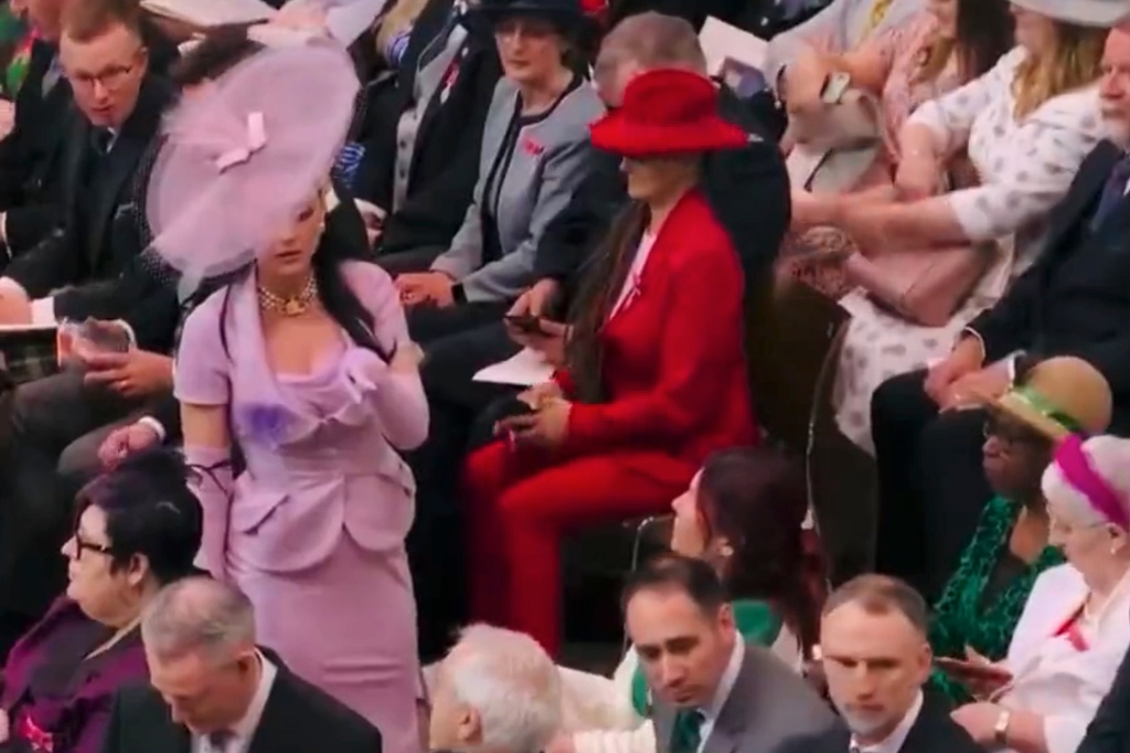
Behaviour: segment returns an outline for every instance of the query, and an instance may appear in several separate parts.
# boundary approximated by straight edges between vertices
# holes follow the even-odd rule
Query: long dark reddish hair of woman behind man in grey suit
[[[724,537],[733,549],[722,572],[731,598],[773,604],[807,657],[819,641],[811,579],[823,566],[805,551],[800,466],[768,448],[720,450],[703,465],[697,504],[707,537]]]

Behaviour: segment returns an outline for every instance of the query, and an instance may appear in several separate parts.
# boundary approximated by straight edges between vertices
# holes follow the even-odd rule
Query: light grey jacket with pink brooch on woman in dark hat
[[[516,106],[518,87],[503,78],[483,130],[473,200],[451,248],[432,265],[461,282],[472,302],[515,298],[533,284],[533,258],[541,235],[589,171],[589,124],[605,112],[592,85],[582,81],[550,112],[521,129],[510,166],[495,178],[503,181],[495,218],[502,254],[484,266],[484,191]]]

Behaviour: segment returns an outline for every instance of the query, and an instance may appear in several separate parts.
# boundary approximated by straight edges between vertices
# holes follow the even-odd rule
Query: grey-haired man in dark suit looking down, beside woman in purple
[[[119,692],[102,753],[380,753],[381,733],[255,644],[251,601],[189,578],[141,620],[153,687]]]

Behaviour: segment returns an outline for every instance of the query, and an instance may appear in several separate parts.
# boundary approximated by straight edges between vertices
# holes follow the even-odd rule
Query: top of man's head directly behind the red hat
[[[605,35],[593,79],[605,103],[616,107],[628,80],[657,68],[678,68],[705,76],[706,58],[689,21],[647,11],[628,16]]]

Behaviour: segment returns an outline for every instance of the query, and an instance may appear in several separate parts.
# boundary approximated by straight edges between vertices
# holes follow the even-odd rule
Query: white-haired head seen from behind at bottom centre
[[[437,667],[432,750],[537,753],[560,724],[557,667],[524,633],[471,625]]]

